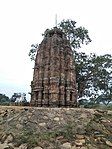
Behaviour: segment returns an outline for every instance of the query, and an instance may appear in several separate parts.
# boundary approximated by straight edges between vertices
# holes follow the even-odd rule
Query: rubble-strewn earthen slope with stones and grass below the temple
[[[0,149],[112,148],[112,111],[27,109],[0,107]]]

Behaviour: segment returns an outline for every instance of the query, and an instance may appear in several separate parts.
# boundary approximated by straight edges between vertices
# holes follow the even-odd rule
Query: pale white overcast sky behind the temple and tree
[[[0,93],[30,92],[30,46],[46,28],[72,19],[89,31],[84,52],[112,54],[112,0],[0,0]]]

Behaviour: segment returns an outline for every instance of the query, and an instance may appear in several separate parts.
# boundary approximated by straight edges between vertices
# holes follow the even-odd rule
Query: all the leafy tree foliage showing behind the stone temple
[[[97,56],[93,53],[87,55],[84,52],[77,52],[76,49],[83,44],[88,44],[91,39],[88,30],[84,27],[76,27],[75,21],[63,20],[58,24],[58,28],[66,34],[74,51],[78,98],[88,97],[92,104],[112,101],[112,56],[109,54]],[[48,29],[44,35],[47,31]],[[36,51],[37,47],[34,47]]]

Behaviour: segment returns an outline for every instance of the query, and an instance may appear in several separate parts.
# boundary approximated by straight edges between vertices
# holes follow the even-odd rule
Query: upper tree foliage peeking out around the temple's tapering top
[[[65,34],[67,39],[70,41],[70,45],[73,50],[76,48],[81,48],[82,44],[88,44],[91,42],[91,39],[88,35],[88,30],[84,27],[76,27],[76,22],[72,20],[63,20],[58,24],[58,28],[60,28]],[[49,29],[46,29],[43,36]],[[38,49],[38,44],[32,44],[29,52],[29,57],[31,60],[35,60],[36,51]]]

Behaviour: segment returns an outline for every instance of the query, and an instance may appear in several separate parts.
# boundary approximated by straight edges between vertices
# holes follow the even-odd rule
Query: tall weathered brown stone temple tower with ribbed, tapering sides
[[[46,32],[38,47],[30,104],[38,107],[75,107],[77,104],[73,51],[57,27]]]

